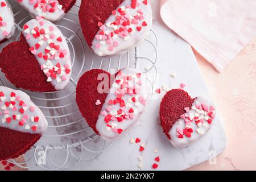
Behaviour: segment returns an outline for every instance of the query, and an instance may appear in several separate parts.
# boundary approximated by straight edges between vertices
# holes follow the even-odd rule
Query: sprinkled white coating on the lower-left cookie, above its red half
[[[46,118],[26,93],[0,86],[0,100],[0,127],[31,134],[46,131]]]

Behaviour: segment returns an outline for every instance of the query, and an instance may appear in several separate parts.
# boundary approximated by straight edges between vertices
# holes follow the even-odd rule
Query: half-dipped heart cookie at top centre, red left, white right
[[[147,37],[152,10],[147,0],[84,0],[79,20],[88,46],[98,56],[121,55]]]

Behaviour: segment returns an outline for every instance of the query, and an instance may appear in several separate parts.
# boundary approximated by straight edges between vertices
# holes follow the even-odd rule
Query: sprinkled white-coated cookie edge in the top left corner
[[[14,34],[14,16],[9,3],[5,0],[0,1],[0,42],[10,39]]]

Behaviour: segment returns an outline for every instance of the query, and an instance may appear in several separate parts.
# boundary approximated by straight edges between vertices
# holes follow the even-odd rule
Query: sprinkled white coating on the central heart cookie
[[[138,75],[138,77],[137,73],[139,72],[133,68],[125,68],[121,72],[122,74],[118,74],[115,78],[105,103],[102,103],[101,113],[96,123],[97,131],[105,140],[118,139],[130,130],[137,123],[139,115],[143,112],[148,100],[146,77],[143,75]],[[125,76],[130,76],[131,80],[127,82],[129,88],[135,86],[134,88],[137,89],[136,94],[133,94],[132,89],[129,91],[130,94],[125,93],[127,86],[121,89],[121,85],[124,83],[123,77]],[[122,94],[123,105],[119,103],[109,104],[110,100],[117,100],[118,94]],[[131,111],[131,108],[133,111]],[[111,114],[112,117],[106,122],[105,118],[108,114]],[[125,119],[122,118],[122,115],[125,115]],[[121,131],[119,131],[120,129]]]

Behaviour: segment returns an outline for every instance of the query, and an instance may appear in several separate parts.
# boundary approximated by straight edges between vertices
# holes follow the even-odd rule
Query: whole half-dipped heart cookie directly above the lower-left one
[[[19,42],[0,53],[0,68],[18,88],[38,92],[64,89],[71,77],[71,56],[55,24],[37,17],[24,24]]]

